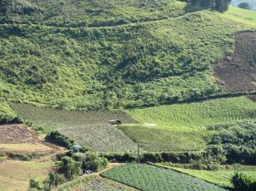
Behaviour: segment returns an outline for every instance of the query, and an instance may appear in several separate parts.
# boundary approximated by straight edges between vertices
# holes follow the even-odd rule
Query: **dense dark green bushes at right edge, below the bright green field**
[[[256,164],[256,125],[243,121],[213,135],[207,153],[220,163]]]

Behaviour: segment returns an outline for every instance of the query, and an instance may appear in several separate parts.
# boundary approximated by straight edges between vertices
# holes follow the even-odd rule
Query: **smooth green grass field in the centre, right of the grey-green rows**
[[[204,130],[165,130],[147,125],[119,125],[118,129],[134,142],[139,142],[141,148],[154,152],[201,150],[208,137]]]

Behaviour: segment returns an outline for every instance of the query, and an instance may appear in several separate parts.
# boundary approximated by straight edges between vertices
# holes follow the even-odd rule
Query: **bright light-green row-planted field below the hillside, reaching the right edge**
[[[162,129],[202,129],[207,125],[234,120],[255,120],[256,104],[245,97],[206,100],[128,110],[143,123],[157,124]]]

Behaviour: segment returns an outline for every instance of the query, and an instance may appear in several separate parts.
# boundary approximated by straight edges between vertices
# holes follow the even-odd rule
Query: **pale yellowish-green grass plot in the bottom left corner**
[[[0,164],[0,190],[27,190],[29,179],[43,181],[53,166],[54,163],[49,160],[4,162]]]

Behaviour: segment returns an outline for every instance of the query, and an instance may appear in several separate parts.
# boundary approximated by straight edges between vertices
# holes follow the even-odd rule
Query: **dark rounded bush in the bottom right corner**
[[[253,191],[256,189],[256,179],[248,177],[246,174],[236,173],[232,177],[232,183],[235,190]]]

